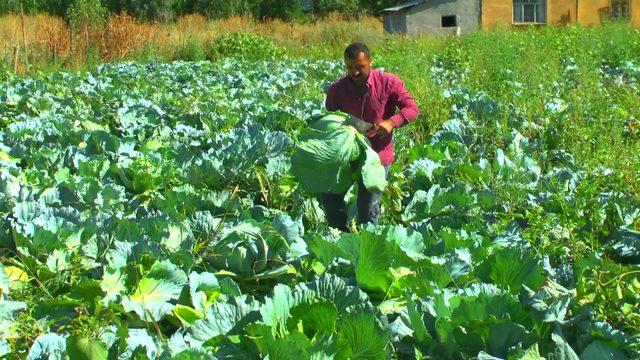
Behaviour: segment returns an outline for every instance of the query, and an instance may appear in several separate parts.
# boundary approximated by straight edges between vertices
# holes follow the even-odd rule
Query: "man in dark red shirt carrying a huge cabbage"
[[[371,55],[365,44],[347,46],[344,61],[347,75],[329,86],[325,106],[329,111],[340,110],[373,124],[366,136],[380,156],[387,176],[394,161],[393,130],[413,121],[419,114],[418,107],[397,76],[371,67]],[[345,195],[321,194],[321,202],[329,226],[348,231]],[[381,196],[367,191],[360,181],[358,223],[378,223]]]

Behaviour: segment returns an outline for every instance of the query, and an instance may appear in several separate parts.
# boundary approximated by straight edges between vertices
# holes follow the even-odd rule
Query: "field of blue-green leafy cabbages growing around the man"
[[[340,61],[6,77],[0,357],[640,357],[640,199],[563,148],[565,60],[532,117],[508,74],[512,102],[434,58],[449,119],[397,130],[380,225],[350,233],[292,169]],[[620,64],[588,70],[637,94]]]

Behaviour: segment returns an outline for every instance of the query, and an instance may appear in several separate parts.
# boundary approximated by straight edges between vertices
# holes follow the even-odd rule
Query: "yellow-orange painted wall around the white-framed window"
[[[640,27],[640,0],[631,1],[632,26]],[[598,26],[609,14],[610,0],[547,0],[547,24]],[[576,19],[577,12],[577,19]],[[483,0],[482,27],[513,25],[513,0]]]

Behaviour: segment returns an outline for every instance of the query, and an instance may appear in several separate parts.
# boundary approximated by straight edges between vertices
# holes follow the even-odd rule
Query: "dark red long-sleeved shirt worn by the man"
[[[371,69],[367,88],[369,90],[359,96],[353,82],[344,76],[329,86],[325,106],[329,111],[339,110],[371,124],[391,119],[396,128],[413,121],[420,113],[402,80],[393,74]],[[372,136],[369,140],[382,165],[392,164],[395,159],[393,134]]]

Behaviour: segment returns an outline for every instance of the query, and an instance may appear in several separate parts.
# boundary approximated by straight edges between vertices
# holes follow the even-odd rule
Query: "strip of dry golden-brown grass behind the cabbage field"
[[[356,39],[371,43],[384,39],[380,19],[366,17],[355,21],[340,15],[306,23],[260,22],[248,16],[209,21],[201,15],[187,15],[175,22],[151,24],[136,22],[126,14],[112,14],[104,26],[78,33],[71,33],[60,18],[34,15],[25,16],[25,29],[26,52],[20,16],[0,17],[0,61],[5,65],[12,66],[16,48],[20,68],[26,63],[35,67],[81,68],[87,65],[90,56],[93,61],[128,60],[149,49],[159,58],[172,59],[187,42],[205,45],[234,32],[267,36],[294,55],[316,45],[339,48]]]

